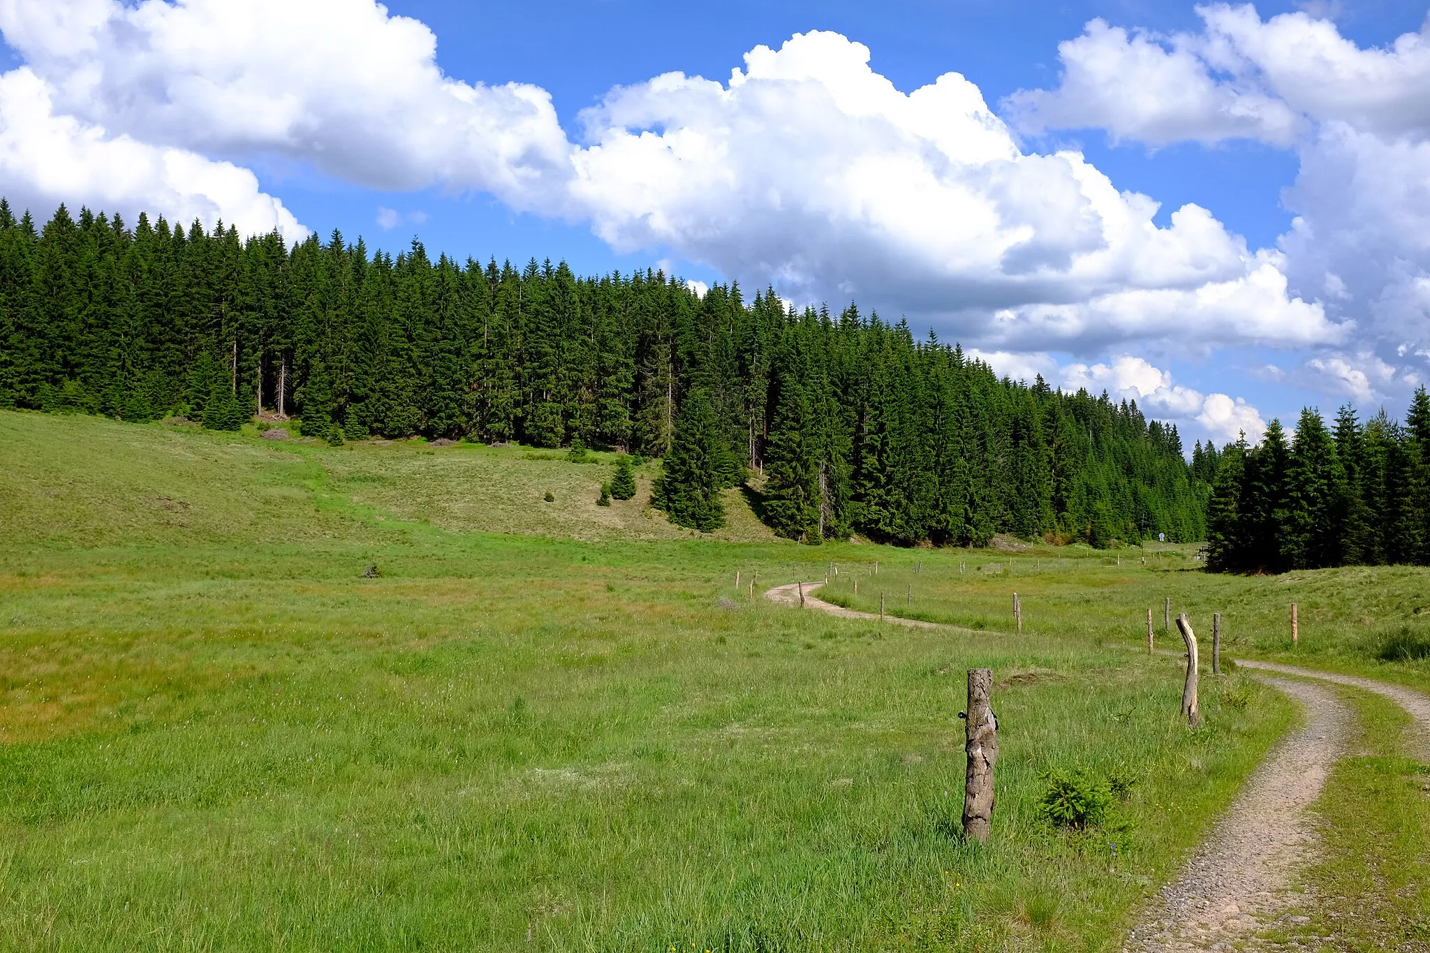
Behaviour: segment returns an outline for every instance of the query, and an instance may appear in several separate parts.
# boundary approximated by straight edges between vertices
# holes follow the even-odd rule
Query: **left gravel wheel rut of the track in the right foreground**
[[[1350,709],[1330,689],[1261,676],[1306,709],[1128,936],[1128,953],[1231,949],[1287,906],[1281,892],[1317,837],[1307,809],[1346,754]]]

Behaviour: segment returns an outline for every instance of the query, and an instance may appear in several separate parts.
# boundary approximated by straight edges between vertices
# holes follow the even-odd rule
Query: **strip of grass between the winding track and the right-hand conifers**
[[[1211,617],[1221,613],[1228,653],[1430,689],[1430,569],[1357,566],[1228,576],[1203,572],[1195,552],[1195,546],[1150,543],[1144,566],[1137,549],[1040,544],[1012,554],[1010,566],[1008,553],[990,550],[937,560],[921,552],[885,550],[877,576],[871,572],[874,557],[839,564],[839,574],[831,576],[819,597],[877,613],[882,592],[891,614],[1010,632],[1012,594],[1018,593],[1025,633],[1110,639],[1128,649],[1145,649],[1151,609],[1157,644],[1180,650],[1175,617],[1185,612],[1208,663]],[[924,572],[915,572],[919,560]],[[1170,632],[1163,616],[1168,597]],[[1294,647],[1293,602],[1300,629]]]

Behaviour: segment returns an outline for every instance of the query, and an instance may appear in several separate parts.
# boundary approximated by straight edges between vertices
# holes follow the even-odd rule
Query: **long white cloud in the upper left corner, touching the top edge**
[[[445,76],[432,30],[373,0],[0,0],[0,30],[59,110],[143,141],[561,211],[551,96]]]

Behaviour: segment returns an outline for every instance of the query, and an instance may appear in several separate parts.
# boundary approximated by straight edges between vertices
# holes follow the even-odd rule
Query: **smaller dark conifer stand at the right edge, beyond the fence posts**
[[[1420,387],[1404,426],[1381,410],[1336,429],[1303,410],[1287,441],[1278,420],[1257,447],[1221,453],[1208,564],[1228,572],[1430,564],[1430,397]]]

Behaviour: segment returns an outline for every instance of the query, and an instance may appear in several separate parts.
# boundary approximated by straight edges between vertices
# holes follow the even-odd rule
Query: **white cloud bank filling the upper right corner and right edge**
[[[1307,13],[1197,7],[1201,33],[1128,33],[1101,20],[1060,44],[1055,90],[1005,113],[1032,136],[1105,129],[1148,146],[1251,139],[1296,149],[1296,214],[1278,244],[1286,294],[1356,326],[1353,350],[1291,379],[1361,401],[1430,379],[1430,34],[1361,49]],[[1430,26],[1430,21],[1427,21]]]

